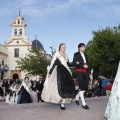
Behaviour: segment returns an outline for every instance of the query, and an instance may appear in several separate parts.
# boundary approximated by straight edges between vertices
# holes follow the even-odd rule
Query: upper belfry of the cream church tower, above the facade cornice
[[[26,31],[25,31],[27,24],[24,18],[20,15],[20,12],[21,11],[19,11],[19,15],[15,17],[15,20],[11,24],[12,34],[8,38],[8,42],[5,44],[5,46],[10,46],[13,44],[18,45],[18,43],[30,44],[28,40],[28,36],[26,35]]]

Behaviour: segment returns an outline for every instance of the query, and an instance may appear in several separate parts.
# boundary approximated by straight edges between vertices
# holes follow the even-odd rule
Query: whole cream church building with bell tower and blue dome
[[[51,55],[47,54],[43,45],[35,38],[32,42],[29,41],[26,35],[26,22],[22,16],[16,16],[12,22],[12,34],[4,45],[0,45],[0,61],[6,65],[8,69],[5,70],[3,79],[23,79],[25,72],[17,68],[16,60],[25,57],[29,53],[28,49],[32,46],[39,48],[44,53],[47,59],[51,60]]]

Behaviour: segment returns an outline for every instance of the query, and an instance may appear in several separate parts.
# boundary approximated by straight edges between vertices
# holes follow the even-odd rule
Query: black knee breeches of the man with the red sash
[[[87,72],[76,72],[76,80],[79,85],[79,89],[88,90],[88,74]]]

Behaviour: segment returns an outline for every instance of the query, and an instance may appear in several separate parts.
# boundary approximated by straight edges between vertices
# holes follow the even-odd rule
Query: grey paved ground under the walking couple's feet
[[[66,104],[66,110],[50,103],[6,105],[0,102],[0,120],[105,120],[108,97],[87,98],[90,110],[75,102]]]

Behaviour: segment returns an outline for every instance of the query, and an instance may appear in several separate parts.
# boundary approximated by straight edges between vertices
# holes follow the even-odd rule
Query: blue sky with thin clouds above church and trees
[[[38,35],[47,53],[50,46],[66,44],[72,61],[79,43],[88,43],[92,31],[113,27],[120,22],[119,0],[0,0],[0,43],[11,36],[10,24],[21,9],[29,41]]]

